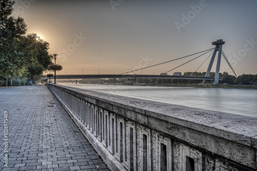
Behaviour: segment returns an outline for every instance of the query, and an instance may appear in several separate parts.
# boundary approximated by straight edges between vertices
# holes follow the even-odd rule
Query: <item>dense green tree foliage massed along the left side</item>
[[[0,0],[0,75],[40,78],[52,64],[49,43],[31,33],[21,17],[11,16],[14,1]]]

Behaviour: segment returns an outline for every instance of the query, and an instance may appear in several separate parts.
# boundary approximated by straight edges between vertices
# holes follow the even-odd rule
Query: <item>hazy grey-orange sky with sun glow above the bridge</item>
[[[223,39],[240,75],[257,74],[256,9],[256,0],[17,0],[13,14],[25,19],[27,33],[39,34],[50,43],[49,52],[59,54],[63,70],[57,74],[119,74],[214,48],[211,42]],[[169,74],[195,71],[210,53]],[[142,73],[160,74],[196,56]],[[206,71],[209,61],[197,71]],[[220,72],[232,74],[227,68],[223,59]]]

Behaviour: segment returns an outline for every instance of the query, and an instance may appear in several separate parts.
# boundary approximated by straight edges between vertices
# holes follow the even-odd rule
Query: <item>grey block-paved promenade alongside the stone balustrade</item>
[[[0,112],[0,170],[108,170],[47,86],[0,88]]]

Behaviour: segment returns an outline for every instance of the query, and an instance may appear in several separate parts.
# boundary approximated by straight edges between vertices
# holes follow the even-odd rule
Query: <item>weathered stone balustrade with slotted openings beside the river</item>
[[[257,118],[48,87],[111,170],[256,170]]]

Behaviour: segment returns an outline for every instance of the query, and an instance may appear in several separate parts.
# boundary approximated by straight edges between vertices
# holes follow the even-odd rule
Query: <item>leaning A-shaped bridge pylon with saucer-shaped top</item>
[[[215,78],[213,84],[218,84],[218,78],[219,78],[219,68],[221,67],[221,58],[222,58],[222,45],[225,44],[225,42],[222,39],[219,39],[215,42],[212,42],[212,45],[215,45],[214,52],[212,54],[212,58],[210,61],[210,64],[208,66],[207,72],[205,74],[205,77],[209,77],[213,61],[216,56],[216,52],[218,51],[218,59],[217,59],[217,66],[216,66],[216,72],[215,72]]]

